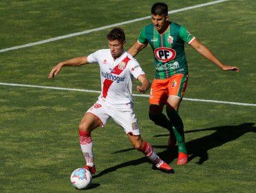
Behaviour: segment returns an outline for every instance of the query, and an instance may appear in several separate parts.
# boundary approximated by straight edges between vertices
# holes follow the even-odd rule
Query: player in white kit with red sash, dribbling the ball
[[[122,29],[114,28],[107,34],[107,39],[109,49],[98,50],[86,57],[77,57],[60,62],[53,67],[48,77],[53,79],[62,67],[67,65],[80,66],[86,63],[98,63],[100,65],[102,92],[98,101],[84,114],[79,125],[80,146],[86,161],[84,168],[92,174],[95,173],[91,132],[95,128],[103,127],[112,118],[125,130],[134,148],[143,152],[152,161],[154,168],[163,172],[174,173],[172,167],[154,152],[152,145],[143,141],[140,136],[131,92],[134,78],[141,83],[136,87],[138,92],[145,93],[150,88],[145,72],[140,68],[138,61],[131,57],[131,54],[125,52],[125,32]]]

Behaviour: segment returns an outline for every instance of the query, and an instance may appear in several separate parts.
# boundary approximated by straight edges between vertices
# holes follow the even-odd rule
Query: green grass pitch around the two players
[[[2,0],[0,50],[147,17],[154,2]],[[209,2],[166,1],[170,10]],[[179,166],[176,149],[166,147],[167,131],[148,118],[148,98],[134,96],[143,139],[176,173],[152,170],[111,120],[92,133],[97,172],[85,192],[255,191],[255,6],[255,0],[230,0],[170,14],[170,21],[188,28],[221,61],[240,68],[239,73],[222,72],[186,45],[190,79],[185,98],[250,105],[184,100],[180,114],[190,161]],[[127,49],[150,22],[119,26],[127,35]],[[79,191],[70,183],[71,172],[84,165],[78,124],[98,93],[1,83],[100,90],[98,65],[64,68],[55,79],[47,77],[59,61],[107,48],[110,29],[0,52],[0,192]],[[136,59],[152,81],[151,48]]]

